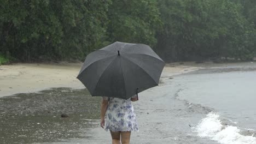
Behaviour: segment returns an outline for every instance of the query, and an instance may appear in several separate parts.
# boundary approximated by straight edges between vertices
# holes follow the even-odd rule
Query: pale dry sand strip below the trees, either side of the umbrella
[[[83,63],[16,63],[0,65],[0,97],[38,92],[53,87],[84,88],[76,79]],[[196,67],[166,64],[162,77],[187,73]]]

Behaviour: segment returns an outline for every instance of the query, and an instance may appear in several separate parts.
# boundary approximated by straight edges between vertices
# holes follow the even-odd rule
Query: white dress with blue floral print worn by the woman
[[[106,131],[138,131],[131,99],[108,97],[103,97],[103,99],[109,101],[105,115]]]

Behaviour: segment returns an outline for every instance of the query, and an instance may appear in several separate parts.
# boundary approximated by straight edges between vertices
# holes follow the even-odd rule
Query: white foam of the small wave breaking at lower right
[[[198,136],[209,137],[223,144],[256,144],[256,137],[253,135],[241,135],[237,127],[222,125],[218,113],[208,113],[193,129]]]

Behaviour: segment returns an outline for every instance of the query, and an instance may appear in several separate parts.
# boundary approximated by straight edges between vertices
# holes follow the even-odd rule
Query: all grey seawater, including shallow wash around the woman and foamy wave
[[[133,103],[139,132],[132,133],[131,143],[256,144],[255,77],[244,66],[162,74],[160,85]],[[99,121],[92,123],[96,127],[84,129],[86,139],[54,143],[111,143]]]

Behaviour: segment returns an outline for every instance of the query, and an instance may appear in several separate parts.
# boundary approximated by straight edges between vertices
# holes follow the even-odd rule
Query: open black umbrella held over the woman
[[[164,65],[148,45],[117,41],[90,53],[77,78],[92,96],[128,99],[157,86]]]

